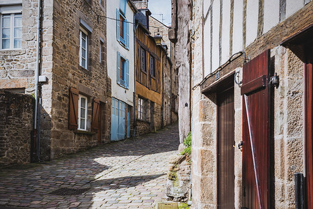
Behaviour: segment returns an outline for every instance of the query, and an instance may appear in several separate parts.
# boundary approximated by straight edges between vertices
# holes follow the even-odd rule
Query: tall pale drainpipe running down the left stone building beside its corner
[[[35,69],[35,118],[33,127],[33,157],[36,154],[35,150],[38,151],[40,144],[40,139],[38,137],[38,127],[40,124],[37,123],[38,120],[38,86],[39,86],[39,60],[40,60],[40,15],[41,15],[41,0],[38,1],[38,15],[37,15],[37,49],[36,49],[36,69]],[[38,153],[37,153],[38,154]],[[39,159],[39,155],[37,156]]]

